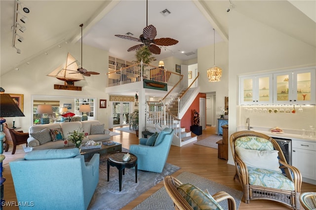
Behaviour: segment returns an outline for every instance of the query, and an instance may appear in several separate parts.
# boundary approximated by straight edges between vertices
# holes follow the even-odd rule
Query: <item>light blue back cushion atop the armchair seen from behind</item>
[[[80,155],[78,148],[72,149],[39,149],[26,153],[25,160],[44,160],[44,159],[59,159],[72,158]]]

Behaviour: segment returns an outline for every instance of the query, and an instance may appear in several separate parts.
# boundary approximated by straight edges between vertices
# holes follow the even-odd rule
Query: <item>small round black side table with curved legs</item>
[[[119,191],[122,190],[122,175],[125,174],[125,168],[135,167],[135,183],[137,183],[137,157],[131,153],[129,161],[123,161],[123,156],[128,152],[117,152],[108,155],[108,181],[110,178],[110,166],[117,167],[118,169],[118,183]]]

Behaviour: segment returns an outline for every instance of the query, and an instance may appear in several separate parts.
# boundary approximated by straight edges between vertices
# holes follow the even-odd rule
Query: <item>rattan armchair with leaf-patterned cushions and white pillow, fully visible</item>
[[[286,204],[294,210],[300,209],[299,197],[301,193],[302,175],[297,168],[287,164],[284,154],[276,140],[253,131],[239,131],[231,135],[230,143],[236,166],[236,175],[234,178],[238,178],[241,184],[243,198],[246,204],[248,204],[250,200],[267,199]],[[243,151],[246,153],[258,152],[259,150],[269,154],[277,150],[278,152],[275,153],[275,155],[278,156],[276,157],[278,159],[275,160],[276,170],[280,168],[283,170],[283,173],[281,171],[265,169],[265,166],[257,168],[249,166],[249,163],[246,165],[244,162],[245,159],[242,161],[240,158],[240,156],[244,156],[244,153],[239,153],[238,156],[236,152],[237,146],[243,147],[243,149],[245,149]],[[237,150],[239,150],[239,148],[237,148]],[[271,150],[271,152],[267,150]],[[270,165],[271,163],[267,158],[270,159],[271,156],[273,155],[270,155],[270,157],[266,156],[264,160],[261,159],[262,163]],[[266,177],[270,179],[264,179]],[[280,180],[280,182],[275,180]]]

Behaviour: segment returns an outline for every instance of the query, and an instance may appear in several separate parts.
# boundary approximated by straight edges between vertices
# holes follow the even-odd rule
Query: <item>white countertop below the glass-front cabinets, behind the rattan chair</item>
[[[240,128],[237,129],[237,131],[246,131],[247,128],[246,126],[240,126]],[[299,141],[310,141],[310,142],[316,142],[316,138],[310,138],[308,136],[303,137],[301,134],[293,134],[301,131],[290,131],[290,130],[285,130],[284,133],[276,134],[276,133],[271,133],[270,129],[267,128],[260,128],[260,127],[254,127],[250,129],[250,131],[258,132],[265,134],[269,137],[276,137],[276,138],[282,138],[282,139],[291,139],[291,140],[299,140]],[[293,132],[293,133],[290,133]],[[306,135],[309,135],[309,131],[305,132]]]

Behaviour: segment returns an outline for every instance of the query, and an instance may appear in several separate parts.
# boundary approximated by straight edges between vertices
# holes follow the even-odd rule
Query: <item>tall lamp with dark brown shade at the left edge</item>
[[[5,119],[3,117],[24,117],[25,115],[19,108],[19,106],[13,101],[12,97],[9,94],[4,93],[4,89],[0,88],[0,210],[2,210],[2,202],[4,186],[3,183],[5,178],[2,177],[2,161],[5,156],[3,155],[3,138],[5,134],[3,133],[3,123],[5,123]]]

